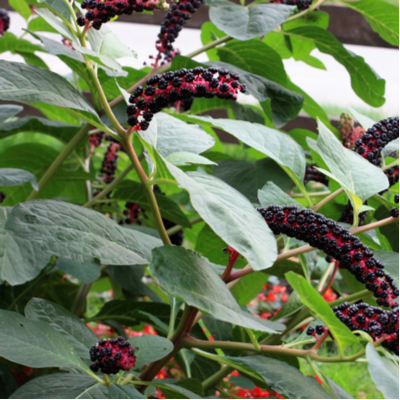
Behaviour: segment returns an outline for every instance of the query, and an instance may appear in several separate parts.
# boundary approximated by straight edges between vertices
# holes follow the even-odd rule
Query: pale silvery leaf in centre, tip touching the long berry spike
[[[218,236],[245,257],[255,270],[273,264],[275,238],[242,194],[211,175],[185,174],[174,165],[167,165],[179,184],[189,192],[193,207]]]

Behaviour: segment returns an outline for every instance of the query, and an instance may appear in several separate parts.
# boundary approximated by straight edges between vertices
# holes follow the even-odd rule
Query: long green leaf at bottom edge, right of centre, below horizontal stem
[[[213,358],[265,382],[272,390],[289,399],[332,398],[313,376],[304,376],[285,361],[264,356]]]

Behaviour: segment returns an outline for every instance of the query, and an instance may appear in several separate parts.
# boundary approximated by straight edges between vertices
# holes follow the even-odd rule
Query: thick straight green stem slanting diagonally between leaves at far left
[[[75,148],[87,137],[91,125],[85,124],[79,129],[78,133],[71,139],[71,141],[62,149],[57,158],[53,161],[44,175],[40,178],[38,185],[39,190],[33,190],[28,196],[26,201],[35,200],[39,197],[43,189],[47,186],[58,168],[61,167],[63,162],[69,157],[69,155],[75,150]]]

